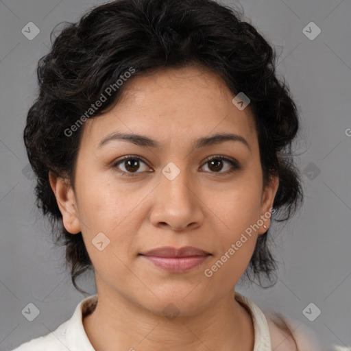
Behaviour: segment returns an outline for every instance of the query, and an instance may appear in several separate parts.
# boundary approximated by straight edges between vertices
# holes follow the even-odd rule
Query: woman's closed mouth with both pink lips
[[[180,249],[170,246],[158,247],[139,255],[156,267],[171,273],[190,271],[212,256],[209,252],[193,246],[184,246]]]

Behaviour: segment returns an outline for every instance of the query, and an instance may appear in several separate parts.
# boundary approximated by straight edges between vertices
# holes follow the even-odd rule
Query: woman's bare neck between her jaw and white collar
[[[121,295],[98,297],[95,311],[83,319],[96,351],[254,349],[252,318],[234,300],[234,291],[196,314],[173,318],[147,311]]]

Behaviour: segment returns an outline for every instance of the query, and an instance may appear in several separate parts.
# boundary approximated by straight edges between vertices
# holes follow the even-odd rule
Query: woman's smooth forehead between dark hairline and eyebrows
[[[201,66],[159,69],[124,82],[121,97],[106,114],[84,123],[83,142],[97,145],[114,130],[147,134],[165,145],[176,137],[235,132],[255,143],[254,117],[239,110],[225,82]]]

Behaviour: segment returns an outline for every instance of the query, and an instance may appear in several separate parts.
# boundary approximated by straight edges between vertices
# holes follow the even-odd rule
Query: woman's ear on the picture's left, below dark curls
[[[49,171],[49,180],[62,214],[64,228],[71,234],[79,233],[81,231],[80,221],[78,219],[77,203],[71,185],[68,180],[54,175],[51,171]]]

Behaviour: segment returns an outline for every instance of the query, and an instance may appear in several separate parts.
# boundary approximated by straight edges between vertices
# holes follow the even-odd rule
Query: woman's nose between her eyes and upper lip
[[[158,228],[177,232],[195,229],[204,221],[204,208],[199,186],[191,182],[186,171],[170,180],[161,173],[156,187],[150,221]]]

